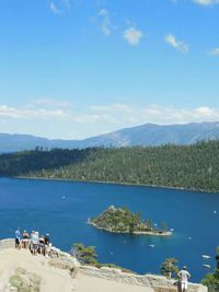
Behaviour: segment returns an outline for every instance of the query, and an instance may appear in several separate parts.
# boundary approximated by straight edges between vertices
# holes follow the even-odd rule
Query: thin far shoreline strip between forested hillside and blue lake
[[[70,183],[87,183],[87,184],[106,184],[106,185],[117,185],[117,186],[134,186],[134,187],[149,187],[149,188],[161,188],[161,189],[175,189],[175,190],[185,190],[193,192],[209,192],[209,194],[219,194],[219,190],[205,190],[205,189],[195,189],[195,188],[184,188],[184,187],[171,187],[171,186],[160,186],[160,185],[146,185],[146,184],[131,184],[131,183],[118,183],[118,182],[100,182],[100,180],[84,180],[84,179],[70,179],[70,178],[58,178],[58,177],[30,177],[30,176],[1,176],[10,177],[18,179],[35,179],[35,180],[54,180],[54,182],[70,182]]]

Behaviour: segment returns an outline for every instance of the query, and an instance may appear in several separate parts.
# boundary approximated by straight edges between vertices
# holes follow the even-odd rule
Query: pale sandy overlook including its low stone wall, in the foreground
[[[28,250],[15,250],[11,240],[0,241],[1,292],[176,292],[174,280],[164,277],[81,266],[58,249],[57,258],[32,256]],[[189,283],[189,292],[207,292],[207,288]]]

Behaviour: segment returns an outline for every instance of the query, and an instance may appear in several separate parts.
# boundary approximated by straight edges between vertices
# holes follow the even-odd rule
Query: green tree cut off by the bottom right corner
[[[201,283],[208,287],[209,292],[219,291],[219,246],[217,247],[215,271],[211,273],[207,273],[203,279]]]

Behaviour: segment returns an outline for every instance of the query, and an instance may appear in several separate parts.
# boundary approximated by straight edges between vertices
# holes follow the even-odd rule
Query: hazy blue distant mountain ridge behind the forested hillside
[[[31,135],[0,133],[0,152],[33,150],[37,145],[44,149],[83,149],[92,147],[134,147],[161,144],[193,144],[200,140],[219,139],[219,121],[191,122],[185,125],[146,124],[124,128],[114,132],[100,135],[84,140],[46,139]]]

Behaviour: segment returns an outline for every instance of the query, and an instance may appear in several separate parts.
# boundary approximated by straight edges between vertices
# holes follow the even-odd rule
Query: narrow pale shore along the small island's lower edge
[[[99,227],[95,223],[92,223],[91,221],[88,221],[88,224],[97,229],[97,230],[102,230],[102,231],[114,233],[114,234],[148,235],[148,236],[170,236],[173,234],[173,232],[171,232],[171,231],[165,231],[162,233],[159,233],[159,231],[158,232],[153,232],[153,231],[134,231],[134,232],[112,231],[112,230]]]

